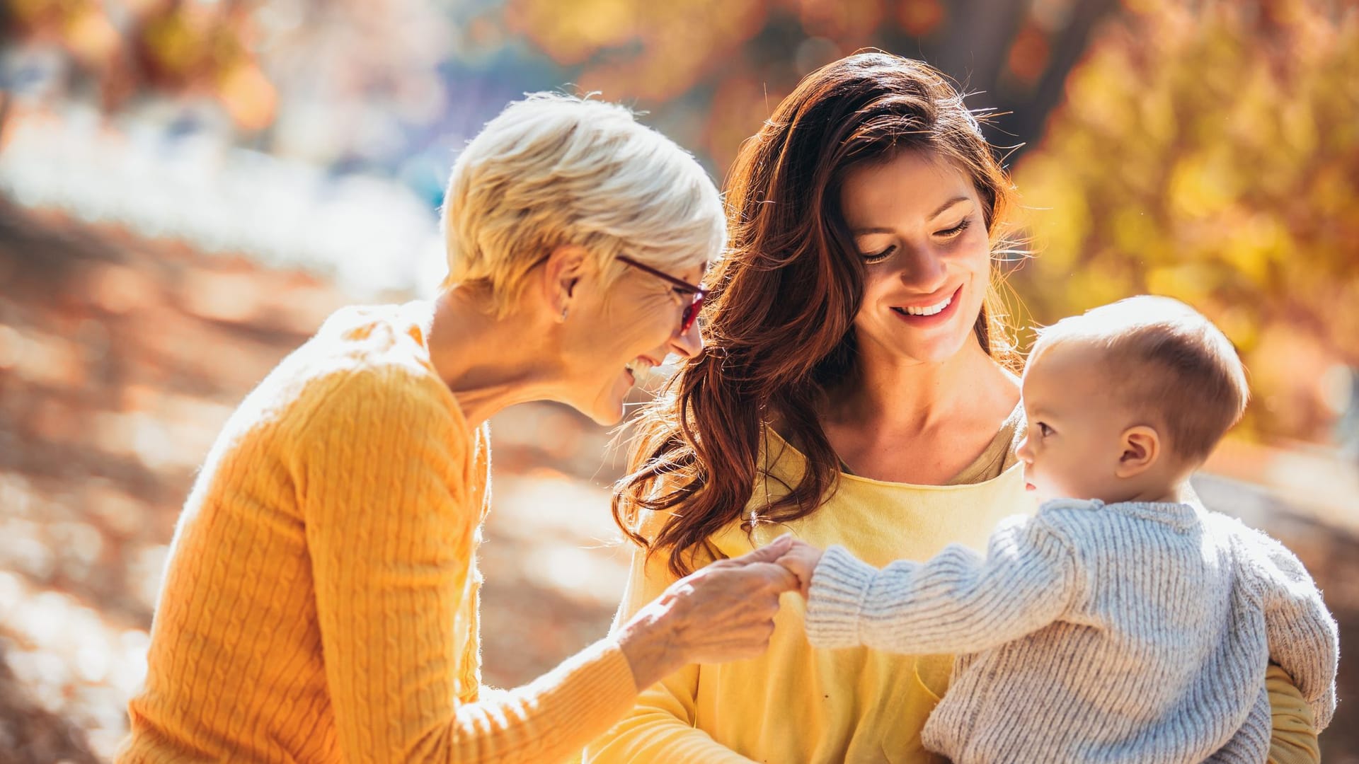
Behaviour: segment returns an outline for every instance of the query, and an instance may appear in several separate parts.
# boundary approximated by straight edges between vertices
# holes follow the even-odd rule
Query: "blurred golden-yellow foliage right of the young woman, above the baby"
[[[1250,368],[1246,430],[1325,443],[1359,367],[1359,14],[1203,5],[1129,8],[1072,72],[1015,171],[1037,257],[1012,283],[1041,322],[1197,306]]]

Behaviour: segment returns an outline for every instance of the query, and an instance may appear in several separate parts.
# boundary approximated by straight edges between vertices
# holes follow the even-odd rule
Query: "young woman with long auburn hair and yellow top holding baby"
[[[1010,194],[962,98],[919,61],[851,56],[777,106],[728,175],[709,348],[644,412],[616,496],[640,545],[620,625],[784,532],[885,566],[983,548],[1002,517],[1034,510],[996,290]],[[587,760],[935,760],[920,730],[953,658],[813,650],[803,613],[791,598],[754,659],[692,663],[643,692]],[[1307,706],[1276,666],[1268,682],[1275,760],[1316,761]],[[1109,742],[1101,760],[1125,761]]]

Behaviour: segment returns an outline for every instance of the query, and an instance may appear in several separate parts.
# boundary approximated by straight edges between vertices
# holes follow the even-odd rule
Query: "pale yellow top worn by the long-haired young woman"
[[[761,459],[772,477],[757,483],[746,507],[761,510],[800,477],[802,454],[768,432]],[[962,485],[906,485],[841,476],[815,513],[786,526],[760,526],[754,542],[735,525],[712,542],[738,556],[786,530],[819,546],[841,544],[874,566],[924,560],[947,544],[984,549],[1003,517],[1033,513],[1019,466]],[[643,532],[659,518],[648,517]],[[633,556],[618,621],[673,580],[663,553]],[[813,650],[798,594],[786,594],[769,651],[756,659],[690,665],[644,691],[632,714],[586,750],[590,764],[775,764],[942,761],[920,744],[920,730],[949,687],[949,655],[894,655],[867,648]],[[1271,669],[1275,700],[1272,761],[1317,761],[1316,733],[1301,695]],[[1283,727],[1283,730],[1280,730]],[[1287,756],[1292,750],[1294,756]],[[1280,753],[1284,752],[1284,753]]]

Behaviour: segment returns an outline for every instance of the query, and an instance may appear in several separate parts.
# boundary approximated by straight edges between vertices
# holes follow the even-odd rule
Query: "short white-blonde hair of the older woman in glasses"
[[[448,277],[480,283],[499,313],[563,245],[681,271],[718,258],[722,197],[686,151],[617,103],[553,92],[507,106],[458,156],[443,205]]]

